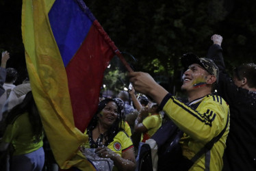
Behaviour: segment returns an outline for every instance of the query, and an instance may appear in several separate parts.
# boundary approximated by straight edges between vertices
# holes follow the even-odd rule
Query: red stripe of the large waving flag
[[[86,39],[66,66],[75,127],[84,132],[97,111],[105,68],[114,51],[92,26]]]

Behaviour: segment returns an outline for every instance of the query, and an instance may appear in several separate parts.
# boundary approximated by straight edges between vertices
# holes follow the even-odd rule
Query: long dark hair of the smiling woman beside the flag
[[[120,99],[117,100],[115,98],[105,98],[103,101],[100,101],[97,112],[94,114],[92,120],[90,121],[90,123],[88,124],[88,127],[87,127],[88,131],[92,131],[95,127],[97,127],[97,123],[99,121],[98,114],[104,109],[104,107],[107,105],[107,103],[110,103],[111,101],[116,103],[116,105],[118,107],[118,118],[116,118],[116,121],[112,124],[110,129],[108,129],[107,132],[105,133],[105,135],[107,137],[105,146],[107,146],[108,144],[110,144],[110,142],[113,141],[114,137],[116,136],[116,134],[119,131],[123,131],[121,123],[125,119],[122,117],[122,110],[123,110],[122,107],[123,106],[121,105],[119,100]]]

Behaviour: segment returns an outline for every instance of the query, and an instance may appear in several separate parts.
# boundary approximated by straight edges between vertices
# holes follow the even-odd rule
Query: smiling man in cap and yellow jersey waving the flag
[[[187,93],[188,103],[168,93],[148,73],[131,72],[130,81],[136,91],[151,96],[184,132],[179,142],[186,159],[192,159],[205,144],[224,130],[214,146],[194,161],[189,169],[222,170],[222,155],[229,133],[229,106],[220,96],[212,94],[218,83],[218,67],[212,60],[199,58],[192,53],[183,55],[181,64],[187,69],[183,74],[181,89]]]

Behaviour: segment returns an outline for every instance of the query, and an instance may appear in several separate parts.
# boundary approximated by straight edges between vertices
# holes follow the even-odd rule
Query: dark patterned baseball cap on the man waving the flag
[[[185,53],[183,54],[183,57],[181,57],[181,64],[184,68],[188,68],[188,66],[190,66],[191,64],[199,64],[205,70],[207,70],[208,73],[214,75],[216,77],[216,83],[218,83],[219,70],[218,66],[216,66],[213,60],[207,57],[199,58],[194,53]]]

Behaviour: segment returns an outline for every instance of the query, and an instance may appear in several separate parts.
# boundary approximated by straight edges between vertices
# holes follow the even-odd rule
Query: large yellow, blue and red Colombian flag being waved
[[[23,0],[21,27],[31,89],[57,163],[94,170],[78,148],[88,141],[83,133],[118,49],[82,0]]]

